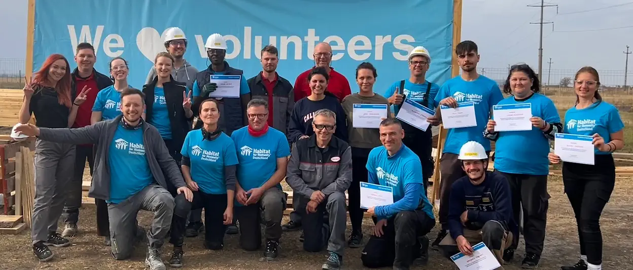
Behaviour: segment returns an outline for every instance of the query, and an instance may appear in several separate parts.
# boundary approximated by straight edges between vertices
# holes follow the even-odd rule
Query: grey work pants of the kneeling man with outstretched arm
[[[115,259],[124,260],[132,255],[138,232],[136,216],[141,209],[154,213],[151,228],[147,231],[147,242],[149,247],[160,249],[172,226],[174,206],[172,194],[157,184],[147,185],[120,204],[108,204],[111,248]]]

